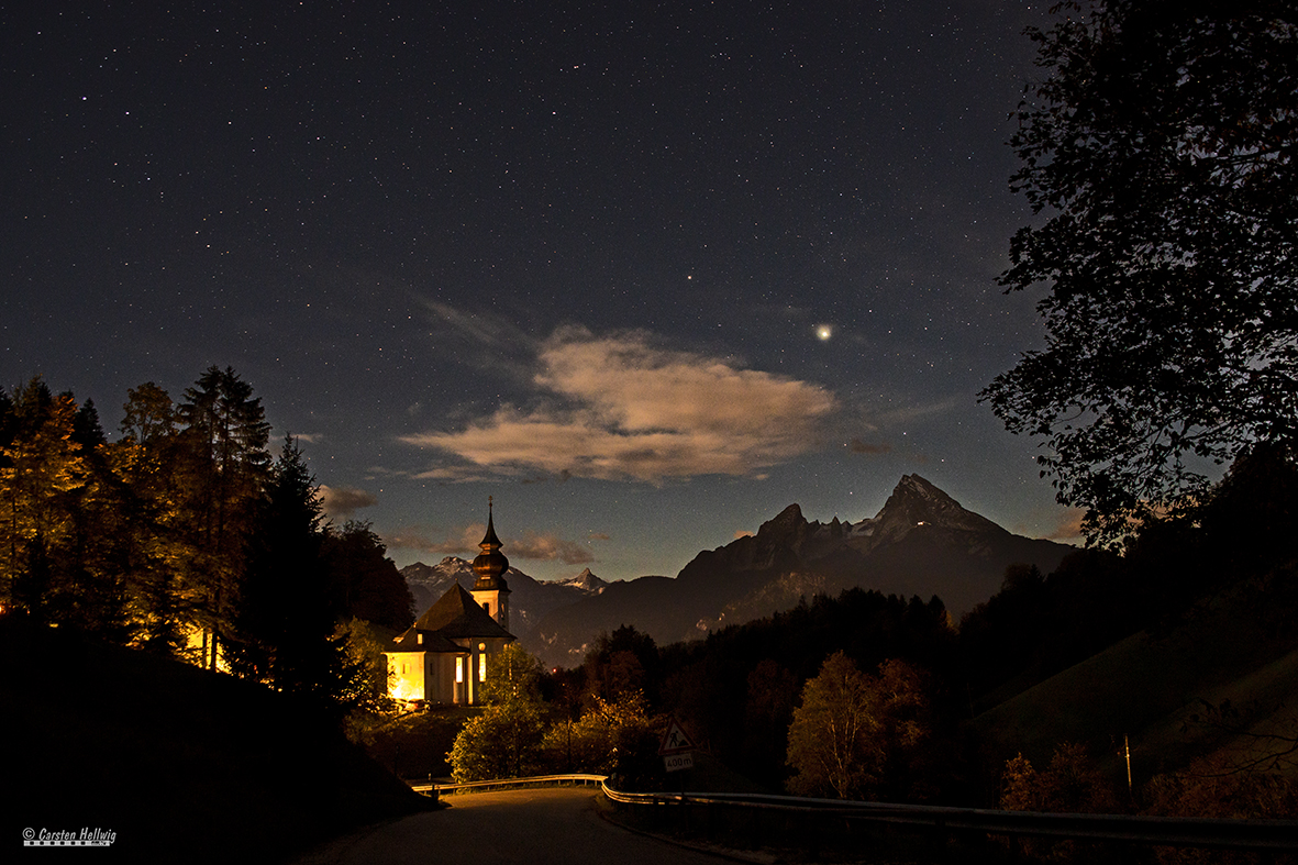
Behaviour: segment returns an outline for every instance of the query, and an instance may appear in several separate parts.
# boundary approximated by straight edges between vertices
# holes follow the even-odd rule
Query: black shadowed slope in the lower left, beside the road
[[[0,718],[4,838],[99,827],[132,861],[276,861],[427,805],[276,694],[13,620]]]

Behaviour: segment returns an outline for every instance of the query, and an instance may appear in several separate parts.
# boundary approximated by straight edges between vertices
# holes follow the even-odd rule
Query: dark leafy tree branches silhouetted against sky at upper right
[[[1298,440],[1298,13],[1060,4],[1011,144],[1041,219],[1007,291],[1045,287],[1044,349],[981,394],[1058,499],[1112,540],[1214,464]]]

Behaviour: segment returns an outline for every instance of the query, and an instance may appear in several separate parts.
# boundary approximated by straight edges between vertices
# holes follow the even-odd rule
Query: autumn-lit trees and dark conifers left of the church
[[[366,643],[410,623],[409,591],[367,525],[323,521],[297,443],[273,456],[269,431],[228,368],[179,401],[132,388],[112,442],[91,400],[0,392],[0,608],[330,710],[373,703]]]

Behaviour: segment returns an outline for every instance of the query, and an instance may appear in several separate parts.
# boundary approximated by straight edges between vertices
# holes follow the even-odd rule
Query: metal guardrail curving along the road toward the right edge
[[[624,805],[702,805],[737,809],[768,809],[789,814],[837,817],[927,826],[936,831],[972,830],[989,835],[1038,835],[1086,840],[1110,840],[1157,847],[1210,847],[1298,852],[1298,821],[1220,820],[1190,817],[1142,817],[1133,814],[1045,814],[1029,810],[901,805],[890,803],[768,796],[718,792],[630,792],[609,786],[607,775],[566,774],[531,778],[498,778],[450,784],[410,784],[432,795],[472,790],[502,790],[546,784],[591,784],[610,800]]]

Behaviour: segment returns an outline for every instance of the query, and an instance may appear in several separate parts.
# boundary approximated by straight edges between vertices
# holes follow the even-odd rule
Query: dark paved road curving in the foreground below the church
[[[596,812],[598,790],[549,787],[447,796],[450,807],[341,838],[297,865],[716,865]]]

